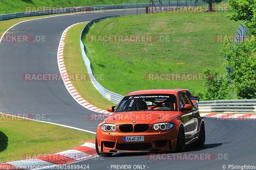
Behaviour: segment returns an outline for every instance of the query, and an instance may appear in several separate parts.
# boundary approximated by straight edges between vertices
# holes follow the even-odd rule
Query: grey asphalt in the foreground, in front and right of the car
[[[215,155],[211,160],[150,160],[146,153],[115,154],[110,158],[97,157],[94,160],[85,160],[76,165],[89,165],[91,169],[110,169],[111,165],[145,165],[145,169],[223,169],[226,165],[255,165],[256,148],[254,121],[219,121],[213,118],[204,118],[206,141],[203,148],[188,147],[185,154],[203,153]],[[173,153],[173,152],[171,152]],[[174,152],[175,153],[175,152]],[[166,154],[166,153],[163,153]],[[170,154],[170,152],[168,153]],[[227,156],[228,160],[221,159]],[[220,160],[216,160],[220,158]],[[95,164],[95,160],[97,163]],[[254,163],[252,163],[254,162]],[[109,168],[108,168],[109,167]],[[148,168],[147,168],[148,167]],[[113,168],[112,168],[113,169]]]

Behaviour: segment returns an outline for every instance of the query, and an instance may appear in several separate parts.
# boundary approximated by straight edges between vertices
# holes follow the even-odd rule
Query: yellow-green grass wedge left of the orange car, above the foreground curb
[[[0,114],[0,163],[54,154],[94,140],[95,135]]]

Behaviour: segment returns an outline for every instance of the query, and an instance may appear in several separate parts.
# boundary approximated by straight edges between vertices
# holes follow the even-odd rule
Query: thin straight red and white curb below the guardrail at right
[[[239,113],[200,113],[201,117],[212,117],[218,120],[256,120],[256,114]]]

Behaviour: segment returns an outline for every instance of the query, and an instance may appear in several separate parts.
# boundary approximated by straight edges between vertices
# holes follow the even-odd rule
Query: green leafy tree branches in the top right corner
[[[256,33],[256,0],[228,0],[229,6],[235,13],[229,13],[228,18],[243,21],[247,28]]]

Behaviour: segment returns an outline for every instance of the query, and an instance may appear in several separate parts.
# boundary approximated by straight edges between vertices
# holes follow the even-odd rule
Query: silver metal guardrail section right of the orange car
[[[256,112],[256,100],[211,100],[200,101],[203,112]]]

